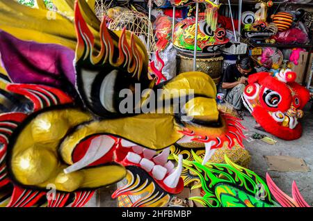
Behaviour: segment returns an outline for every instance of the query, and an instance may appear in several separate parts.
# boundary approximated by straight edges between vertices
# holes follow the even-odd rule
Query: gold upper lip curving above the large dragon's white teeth
[[[163,149],[177,142],[179,133],[174,116],[169,114],[145,114],[114,120],[91,122],[67,136],[61,144],[61,155],[72,163],[71,153],[79,140],[95,133],[110,133],[150,149]]]

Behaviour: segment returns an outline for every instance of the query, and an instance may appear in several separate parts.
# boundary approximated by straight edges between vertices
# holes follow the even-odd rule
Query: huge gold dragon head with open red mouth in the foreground
[[[67,3],[58,1],[58,8]],[[4,1],[0,4],[6,5]],[[38,15],[36,9],[15,3],[6,7],[13,7],[10,13],[21,10]],[[41,15],[45,9],[38,12]],[[0,10],[0,17],[6,17],[2,13]],[[136,36],[125,30],[109,31],[105,21],[101,25],[95,22],[93,11],[83,0],[75,1],[73,16],[74,37],[70,26],[56,31],[67,35],[54,36],[49,31],[58,29],[51,26],[46,30],[50,23],[43,19],[48,22],[41,24],[45,30],[40,35],[46,44],[0,33],[3,65],[13,79],[6,90],[33,103],[31,110],[24,108],[23,113],[0,115],[0,192],[9,196],[5,206],[39,206],[42,201],[48,206],[83,206],[97,188],[121,179],[125,179],[125,186],[113,197],[141,195],[132,206],[165,206],[170,195],[184,187],[182,155],[176,168],[168,161],[171,145],[179,140],[203,142],[204,161],[214,149],[242,146],[243,127],[235,117],[218,111],[216,86],[207,74],[183,73],[158,84],[161,70],[153,63],[148,69],[147,51]],[[6,26],[6,22],[1,20],[0,27],[20,36],[19,29]],[[36,22],[38,19],[29,23],[31,33],[38,31]],[[51,20],[51,24],[56,23]],[[77,49],[72,54],[76,38]],[[62,42],[66,47],[59,45]],[[6,59],[9,53],[11,59]],[[32,55],[39,61],[32,60]],[[75,70],[63,64],[72,64],[73,58]],[[21,77],[19,69],[28,77]],[[66,80],[68,87],[60,79]],[[140,86],[138,91],[136,85]],[[152,99],[158,89],[170,97]],[[131,91],[127,95],[134,104],[127,106],[126,113],[120,108],[125,99],[119,97],[125,90]],[[185,90],[194,90],[195,96]],[[136,99],[138,94],[146,96]],[[179,102],[166,103],[171,100]],[[153,107],[156,101],[166,106]],[[152,111],[145,113],[143,108]],[[159,113],[166,108],[168,113]],[[53,186],[56,195],[45,200],[48,186]]]

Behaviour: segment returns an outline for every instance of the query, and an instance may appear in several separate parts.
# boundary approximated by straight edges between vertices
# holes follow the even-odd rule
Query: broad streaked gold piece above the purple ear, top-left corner
[[[16,1],[0,0],[0,28],[21,40],[63,44],[76,48],[73,22],[59,13],[48,19],[47,8],[31,8]],[[51,17],[52,18],[52,17]],[[94,31],[95,33],[95,31]]]

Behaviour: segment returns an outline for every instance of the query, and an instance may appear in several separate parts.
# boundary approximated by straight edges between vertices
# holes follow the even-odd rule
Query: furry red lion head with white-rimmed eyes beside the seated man
[[[268,133],[284,140],[300,138],[303,107],[310,92],[294,82],[296,73],[282,69],[271,76],[260,72],[249,76],[243,93],[243,104]]]

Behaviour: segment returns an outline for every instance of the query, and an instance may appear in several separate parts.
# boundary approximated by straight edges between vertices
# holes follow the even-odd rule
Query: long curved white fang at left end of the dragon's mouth
[[[86,154],[81,158],[81,160],[76,163],[70,165],[69,167],[64,169],[64,173],[68,174],[70,172],[74,172],[77,170],[81,170],[83,167],[90,165],[91,163],[102,158],[106,153],[110,151],[113,147],[115,140],[110,138],[109,136],[98,136],[94,138],[88,147]]]

